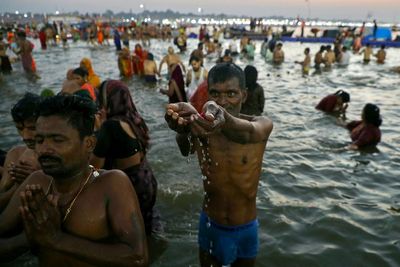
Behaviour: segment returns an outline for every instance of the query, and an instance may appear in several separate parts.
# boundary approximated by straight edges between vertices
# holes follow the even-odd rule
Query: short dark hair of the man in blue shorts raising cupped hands
[[[208,73],[208,85],[224,83],[232,78],[237,78],[239,87],[246,90],[246,82],[243,70],[234,63],[218,63]]]

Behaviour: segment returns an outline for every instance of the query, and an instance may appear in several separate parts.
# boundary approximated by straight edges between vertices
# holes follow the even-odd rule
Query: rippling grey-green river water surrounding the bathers
[[[78,42],[68,49],[41,51],[33,42],[41,79],[27,79],[16,63],[13,74],[0,82],[2,149],[21,142],[11,122],[11,106],[26,91],[57,92],[67,69],[78,66],[82,57],[92,59],[102,80],[119,78],[113,45],[92,48]],[[256,44],[258,51],[261,44]],[[152,41],[150,49],[158,63],[168,45]],[[197,40],[188,40],[188,51],[196,45]],[[400,266],[400,75],[389,71],[400,66],[400,49],[387,49],[384,65],[364,65],[362,56],[352,55],[347,68],[302,77],[294,61],[303,60],[305,47],[314,54],[319,45],[285,43],[286,62],[281,67],[266,63],[258,53],[254,61],[236,59],[241,67],[257,67],[266,95],[264,115],[274,122],[257,197],[257,266]],[[185,63],[189,53],[181,55]],[[206,60],[205,66],[210,69],[213,62]],[[165,232],[151,242],[156,255],[151,266],[199,266],[201,174],[195,156],[188,161],[180,155],[164,121],[167,97],[158,88],[167,86],[166,66],[162,73],[163,80],[153,87],[136,77],[126,81],[150,128],[148,159],[159,183],[156,206]],[[376,150],[343,149],[350,141],[347,130],[314,109],[323,96],[339,89],[351,94],[349,119],[359,119],[368,102],[381,108],[382,142]],[[28,257],[12,266],[36,265]]]

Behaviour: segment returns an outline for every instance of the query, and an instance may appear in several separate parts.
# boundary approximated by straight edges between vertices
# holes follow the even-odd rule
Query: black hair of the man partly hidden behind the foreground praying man
[[[14,122],[23,122],[38,117],[41,98],[37,94],[26,93],[12,108],[11,116]]]

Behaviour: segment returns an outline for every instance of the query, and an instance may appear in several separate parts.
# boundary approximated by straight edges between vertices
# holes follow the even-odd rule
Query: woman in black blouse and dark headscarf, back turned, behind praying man
[[[128,175],[139,198],[146,233],[150,234],[157,181],[146,160],[148,128],[124,83],[107,80],[99,91],[105,120],[97,132],[91,163],[96,168],[119,169]]]

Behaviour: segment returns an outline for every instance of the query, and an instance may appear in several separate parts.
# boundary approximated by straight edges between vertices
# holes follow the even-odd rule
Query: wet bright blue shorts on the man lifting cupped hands
[[[237,259],[253,259],[258,252],[258,220],[237,226],[213,222],[201,212],[198,242],[200,249],[217,258],[222,265]]]

